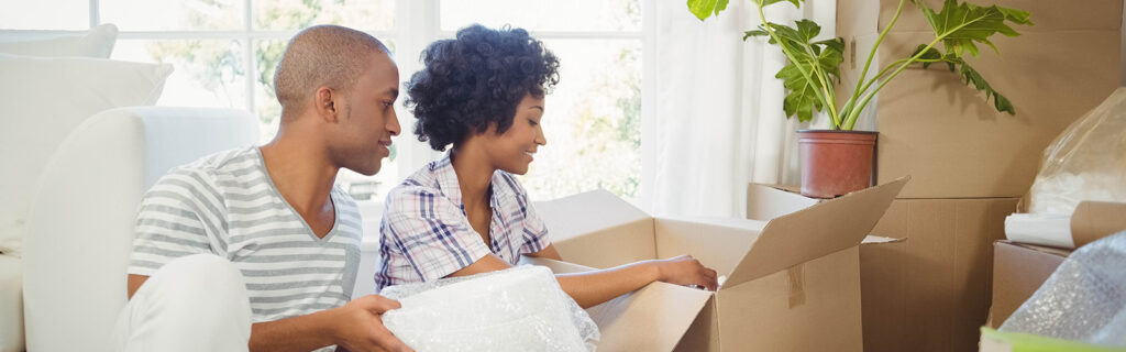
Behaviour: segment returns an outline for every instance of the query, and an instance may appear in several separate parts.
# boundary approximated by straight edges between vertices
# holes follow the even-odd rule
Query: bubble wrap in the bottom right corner
[[[1072,253],[999,331],[1126,346],[1126,231]]]

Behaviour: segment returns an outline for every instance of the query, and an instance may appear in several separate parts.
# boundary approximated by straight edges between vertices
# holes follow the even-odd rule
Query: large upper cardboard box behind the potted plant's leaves
[[[941,1],[927,0],[932,9]],[[881,132],[877,181],[913,177],[900,197],[1018,197],[1031,185],[1042,151],[1071,122],[1101,103],[1118,87],[1120,0],[994,0],[1031,11],[1035,26],[1015,27],[1017,37],[997,35],[1001,55],[978,45],[981,55],[966,60],[1017,109],[998,113],[992,102],[942,64],[911,68],[888,82],[867,116],[857,125]],[[837,35],[844,38],[842,106],[864,69],[879,29],[890,21],[897,0],[841,1]],[[869,69],[908,58],[918,44],[933,38],[921,11],[910,1],[877,52]],[[873,116],[874,115],[874,116]]]

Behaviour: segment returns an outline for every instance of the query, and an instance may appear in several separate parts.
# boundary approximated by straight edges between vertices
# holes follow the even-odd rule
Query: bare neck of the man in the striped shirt
[[[329,194],[339,170],[331,165],[323,149],[310,146],[318,143],[303,143],[300,138],[279,132],[277,138],[260,148],[274,186],[305,218],[331,209]]]

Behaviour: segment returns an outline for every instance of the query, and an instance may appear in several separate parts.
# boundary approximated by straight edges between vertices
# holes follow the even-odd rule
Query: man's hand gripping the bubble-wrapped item
[[[413,351],[383,326],[383,313],[399,307],[399,301],[368,294],[334,308],[336,340],[351,352]]]

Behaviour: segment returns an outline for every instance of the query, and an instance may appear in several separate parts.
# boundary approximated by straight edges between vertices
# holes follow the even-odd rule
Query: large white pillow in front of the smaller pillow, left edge
[[[0,252],[20,255],[36,181],[63,138],[104,109],[152,105],[171,72],[168,64],[0,54]]]

